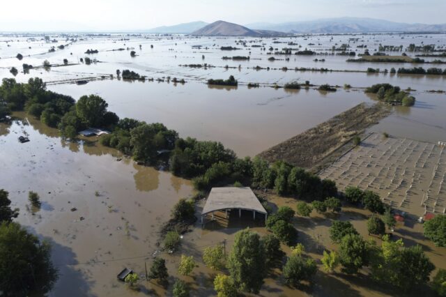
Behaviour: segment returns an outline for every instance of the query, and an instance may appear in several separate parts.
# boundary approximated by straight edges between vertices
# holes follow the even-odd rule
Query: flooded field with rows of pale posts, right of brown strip
[[[378,193],[392,208],[413,215],[445,213],[445,146],[373,133],[330,167],[321,178]]]

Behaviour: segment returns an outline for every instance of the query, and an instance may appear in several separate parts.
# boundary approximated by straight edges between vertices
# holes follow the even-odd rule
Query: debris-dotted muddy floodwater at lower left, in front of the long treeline
[[[30,142],[20,144],[25,134]],[[117,151],[96,143],[63,142],[32,119],[0,124],[0,135],[0,188],[20,208],[17,222],[53,246],[60,277],[50,295],[129,294],[116,275],[124,267],[144,271],[171,207],[192,194],[190,181],[118,162]],[[40,195],[40,210],[30,208],[30,190]]]

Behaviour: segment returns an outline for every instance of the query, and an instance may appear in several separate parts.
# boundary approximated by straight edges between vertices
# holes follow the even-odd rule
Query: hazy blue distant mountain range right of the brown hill
[[[442,32],[446,24],[406,24],[360,17],[339,17],[282,24],[254,23],[249,28],[286,33]]]

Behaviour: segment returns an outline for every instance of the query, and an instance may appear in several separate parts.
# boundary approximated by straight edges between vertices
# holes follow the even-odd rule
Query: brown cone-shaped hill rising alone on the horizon
[[[194,36],[284,36],[286,34],[270,30],[252,30],[239,24],[224,21],[213,22],[197,31],[192,32]]]

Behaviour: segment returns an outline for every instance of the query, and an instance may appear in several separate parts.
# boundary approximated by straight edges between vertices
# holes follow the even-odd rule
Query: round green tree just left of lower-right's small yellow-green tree
[[[313,259],[304,259],[298,255],[288,258],[282,273],[286,284],[298,287],[302,280],[311,280],[316,274],[317,266]]]

